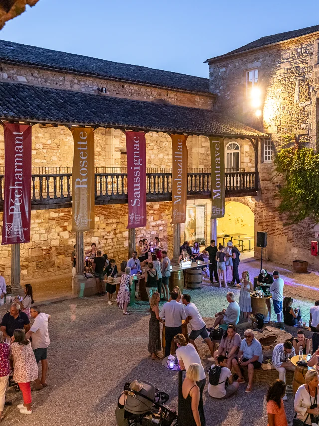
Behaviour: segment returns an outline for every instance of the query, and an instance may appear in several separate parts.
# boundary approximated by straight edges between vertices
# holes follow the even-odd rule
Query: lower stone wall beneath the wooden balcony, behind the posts
[[[95,230],[84,233],[85,250],[95,242],[109,259],[114,258],[118,266],[128,256],[127,205],[95,206]],[[147,203],[148,223],[136,230],[140,238],[153,240],[159,236],[168,255],[173,253],[173,229],[171,226],[171,202]],[[0,220],[3,213],[0,213]],[[75,233],[71,232],[72,210],[54,209],[31,212],[31,239],[21,244],[21,280],[69,274],[70,255],[75,244]],[[10,246],[0,246],[0,272],[10,282]]]

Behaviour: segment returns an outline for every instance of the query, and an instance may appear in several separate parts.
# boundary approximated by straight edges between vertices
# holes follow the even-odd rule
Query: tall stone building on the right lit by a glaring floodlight
[[[255,232],[268,232],[267,256],[286,264],[307,260],[317,269],[310,248],[318,229],[310,220],[284,226],[273,160],[285,135],[319,148],[319,25],[263,37],[207,62],[215,109],[269,134],[258,153],[253,202]]]

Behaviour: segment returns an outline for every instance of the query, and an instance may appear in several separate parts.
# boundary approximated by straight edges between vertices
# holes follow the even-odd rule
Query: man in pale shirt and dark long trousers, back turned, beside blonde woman
[[[172,300],[170,302],[164,303],[160,311],[160,318],[165,320],[165,357],[170,355],[171,342],[176,334],[182,333],[182,321],[186,319],[184,305],[176,301],[178,293],[172,291],[171,298]]]

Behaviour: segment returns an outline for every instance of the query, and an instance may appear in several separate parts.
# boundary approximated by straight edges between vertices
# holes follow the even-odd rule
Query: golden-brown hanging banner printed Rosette
[[[71,129],[74,142],[72,168],[72,232],[94,230],[94,131]]]

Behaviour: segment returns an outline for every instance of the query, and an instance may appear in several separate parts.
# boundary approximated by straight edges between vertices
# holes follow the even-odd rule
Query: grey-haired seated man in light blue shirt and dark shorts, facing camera
[[[232,366],[238,374],[238,383],[245,383],[240,367],[247,366],[248,386],[245,392],[248,394],[253,390],[254,369],[260,368],[263,362],[263,349],[253,330],[246,330],[244,336],[238,352],[238,361],[233,358]]]

